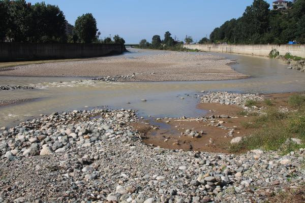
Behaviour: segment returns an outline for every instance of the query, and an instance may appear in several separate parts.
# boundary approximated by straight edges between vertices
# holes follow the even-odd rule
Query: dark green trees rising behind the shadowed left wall
[[[25,0],[0,0],[0,19],[0,42],[125,43],[118,35],[100,40],[91,13],[79,16],[73,26],[58,6],[44,2],[31,5]]]

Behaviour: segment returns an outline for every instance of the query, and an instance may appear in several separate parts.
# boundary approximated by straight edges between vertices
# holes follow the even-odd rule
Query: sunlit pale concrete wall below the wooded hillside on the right
[[[199,49],[207,52],[225,52],[236,54],[247,54],[255,56],[268,56],[272,49],[277,49],[280,55],[290,53],[293,56],[305,58],[305,45],[184,45],[188,49]]]

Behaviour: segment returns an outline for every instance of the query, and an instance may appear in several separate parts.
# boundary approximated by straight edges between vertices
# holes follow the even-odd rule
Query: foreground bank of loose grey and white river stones
[[[230,155],[145,145],[132,110],[73,111],[0,130],[2,202],[263,202],[304,182],[304,149]]]

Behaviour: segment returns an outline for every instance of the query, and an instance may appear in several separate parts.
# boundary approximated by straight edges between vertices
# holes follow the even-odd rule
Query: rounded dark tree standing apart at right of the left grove
[[[82,43],[91,43],[97,38],[97,21],[91,13],[79,16],[75,21],[75,32]]]

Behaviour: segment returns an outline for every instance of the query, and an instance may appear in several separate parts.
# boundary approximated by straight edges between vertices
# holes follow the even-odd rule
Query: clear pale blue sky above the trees
[[[35,4],[37,0],[27,0]],[[238,18],[253,0],[45,0],[57,5],[72,25],[79,15],[92,13],[101,38],[118,34],[127,43],[151,41],[154,35],[199,41],[226,20]],[[272,0],[267,0],[271,5]]]

